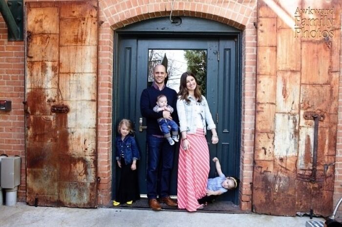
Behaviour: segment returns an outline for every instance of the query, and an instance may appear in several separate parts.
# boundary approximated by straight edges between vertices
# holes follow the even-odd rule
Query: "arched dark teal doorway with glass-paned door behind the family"
[[[214,21],[185,18],[182,27],[170,24],[165,18],[150,19],[116,31],[113,129],[122,118],[132,120],[135,139],[141,152],[138,165],[139,188],[147,194],[147,145],[144,119],[140,113],[140,95],[151,84],[151,68],[168,58],[169,80],[167,86],[178,91],[179,78],[188,69],[201,75],[202,92],[205,94],[220,138],[212,145],[211,132],[207,134],[210,157],[218,157],[226,175],[239,176],[240,145],[240,31]],[[199,26],[199,22],[200,25]],[[169,27],[165,29],[165,25]],[[214,29],[204,32],[203,26]],[[154,30],[151,30],[153,26]],[[163,27],[164,29],[158,29]],[[167,30],[167,32],[165,31]],[[164,32],[163,32],[164,31]],[[169,32],[172,31],[172,34]],[[194,34],[196,33],[196,34]],[[158,38],[153,38],[158,37]],[[192,58],[199,58],[197,61]],[[201,64],[199,64],[199,62]],[[116,130],[115,130],[116,131]],[[116,136],[113,130],[113,138]],[[114,141],[114,140],[112,140]],[[178,148],[175,152],[171,177],[171,195],[177,194]],[[113,144],[113,196],[118,183]],[[215,177],[211,162],[209,177]],[[219,200],[237,204],[238,189],[225,193]]]

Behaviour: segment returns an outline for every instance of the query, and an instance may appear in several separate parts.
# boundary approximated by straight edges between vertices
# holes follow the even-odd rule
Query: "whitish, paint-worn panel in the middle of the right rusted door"
[[[299,115],[276,113],[274,155],[295,156],[298,148]]]

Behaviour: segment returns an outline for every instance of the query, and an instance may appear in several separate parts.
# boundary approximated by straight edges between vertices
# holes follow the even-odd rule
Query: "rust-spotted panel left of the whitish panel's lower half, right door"
[[[254,160],[273,160],[274,133],[256,132]]]

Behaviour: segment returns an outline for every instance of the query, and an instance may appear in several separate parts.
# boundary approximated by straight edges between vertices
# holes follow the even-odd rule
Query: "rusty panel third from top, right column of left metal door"
[[[97,46],[61,46],[60,73],[96,73]]]

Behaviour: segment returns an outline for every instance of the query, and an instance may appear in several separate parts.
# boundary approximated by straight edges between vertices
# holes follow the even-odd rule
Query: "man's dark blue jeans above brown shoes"
[[[147,197],[156,199],[157,194],[159,194],[159,198],[165,198],[170,195],[170,178],[175,146],[171,146],[167,139],[153,135],[147,136],[147,146]],[[160,167],[158,166],[159,163]]]

